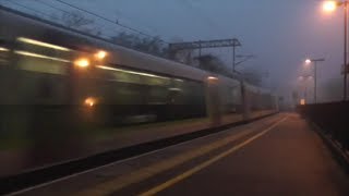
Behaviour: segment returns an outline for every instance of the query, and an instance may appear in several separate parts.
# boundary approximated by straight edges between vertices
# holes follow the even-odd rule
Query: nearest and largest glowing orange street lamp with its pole
[[[347,100],[347,72],[348,72],[348,69],[347,69],[347,38],[348,38],[348,0],[345,0],[345,1],[324,1],[323,3],[323,10],[325,12],[333,12],[336,10],[336,8],[338,7],[344,7],[344,12],[345,12],[345,45],[344,45],[344,93],[342,93],[342,96],[344,96],[344,100]]]

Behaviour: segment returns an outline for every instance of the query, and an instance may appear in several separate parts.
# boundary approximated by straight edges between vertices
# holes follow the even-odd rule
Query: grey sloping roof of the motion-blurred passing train
[[[129,49],[122,47],[120,45],[110,42],[110,40],[97,37],[91,34],[86,34],[73,28],[68,28],[63,25],[39,19],[26,13],[22,13],[15,11],[13,9],[4,8],[0,5],[0,25],[1,26],[13,26],[17,29],[25,29],[25,30],[17,30],[11,36],[23,36],[29,34],[31,37],[37,39],[44,39],[43,41],[48,41],[51,44],[68,45],[70,48],[74,48],[76,46],[69,46],[72,42],[76,42],[79,45],[79,49],[105,49],[108,51],[115,52],[111,58],[111,63],[113,66],[128,66],[131,69],[136,70],[146,70],[154,73],[161,73],[166,75],[172,75],[177,77],[190,78],[195,81],[204,81],[208,76],[215,76],[221,78],[225,84],[229,84],[229,82],[234,85],[239,83],[240,79],[234,79],[231,77],[222,76],[216,73],[210,73],[205,70],[201,70],[194,66],[190,66],[188,64],[174,62],[168,59],[155,57],[145,52],[141,52],[137,50]],[[43,34],[45,30],[35,30],[34,28],[46,28],[46,33]],[[32,29],[32,30],[31,30]],[[1,32],[8,32],[7,28],[0,27],[0,35]],[[49,32],[49,33],[47,33]],[[13,33],[13,32],[12,32]],[[60,37],[60,38],[58,38]],[[91,47],[93,46],[93,47]],[[174,69],[176,68],[176,69]],[[234,81],[234,82],[232,82]],[[268,91],[263,88],[250,85],[248,88],[253,91]]]

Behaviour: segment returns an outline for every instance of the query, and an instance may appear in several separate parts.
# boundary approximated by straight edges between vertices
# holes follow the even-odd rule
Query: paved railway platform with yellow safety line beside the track
[[[280,113],[118,161],[20,195],[348,195],[349,176],[312,127]]]

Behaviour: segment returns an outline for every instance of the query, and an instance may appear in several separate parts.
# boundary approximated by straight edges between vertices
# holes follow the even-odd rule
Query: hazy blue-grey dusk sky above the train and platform
[[[34,0],[17,0],[37,9]],[[44,0],[72,10],[52,0]],[[0,2],[4,2],[3,0]],[[242,42],[238,53],[257,58],[240,70],[269,72],[264,83],[290,95],[298,76],[311,74],[306,57],[325,58],[318,65],[318,88],[339,75],[342,64],[342,9],[325,14],[318,0],[69,0],[108,19],[136,27],[165,40],[220,39],[236,37]],[[14,8],[14,7],[13,7]],[[111,24],[106,24],[110,25]],[[229,50],[220,50],[231,62]],[[311,86],[310,86],[311,87]],[[320,90],[321,91],[321,90]],[[320,97],[321,99],[321,97]]]

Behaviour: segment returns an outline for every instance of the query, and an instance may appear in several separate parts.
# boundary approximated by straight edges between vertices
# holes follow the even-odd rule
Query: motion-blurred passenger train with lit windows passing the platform
[[[0,177],[278,110],[243,79],[2,7],[0,88]]]

